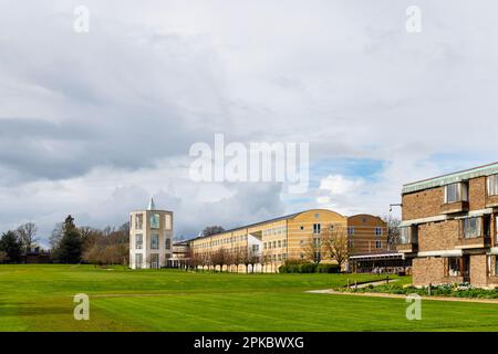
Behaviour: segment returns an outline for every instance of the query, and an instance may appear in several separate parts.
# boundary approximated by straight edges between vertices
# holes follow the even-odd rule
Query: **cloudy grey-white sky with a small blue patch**
[[[422,32],[406,30],[409,6]],[[74,9],[90,11],[87,33]],[[307,208],[385,216],[401,187],[498,160],[496,1],[0,0],[0,230],[175,236]],[[195,183],[194,143],[310,145],[310,188]],[[394,212],[397,212],[396,210]]]

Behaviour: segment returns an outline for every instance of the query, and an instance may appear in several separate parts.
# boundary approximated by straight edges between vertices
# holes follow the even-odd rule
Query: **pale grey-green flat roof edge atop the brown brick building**
[[[445,185],[455,184],[470,178],[477,178],[483,176],[490,176],[498,174],[498,162],[477,166],[468,169],[463,169],[456,173],[450,173],[433,178],[422,179],[403,185],[402,194],[408,194],[413,191],[436,188]]]

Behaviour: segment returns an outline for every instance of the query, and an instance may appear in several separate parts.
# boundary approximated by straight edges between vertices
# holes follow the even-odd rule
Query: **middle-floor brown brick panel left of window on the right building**
[[[418,226],[418,251],[452,250],[459,243],[459,220],[447,220]]]

